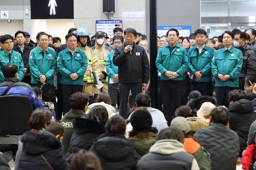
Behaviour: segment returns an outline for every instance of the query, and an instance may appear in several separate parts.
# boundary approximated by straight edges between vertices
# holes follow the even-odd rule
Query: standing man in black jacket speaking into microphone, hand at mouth
[[[149,80],[149,61],[143,47],[135,44],[137,31],[133,28],[124,30],[124,45],[115,49],[113,63],[118,66],[119,78],[119,115],[127,118],[130,90],[133,101],[139,93],[146,93]]]

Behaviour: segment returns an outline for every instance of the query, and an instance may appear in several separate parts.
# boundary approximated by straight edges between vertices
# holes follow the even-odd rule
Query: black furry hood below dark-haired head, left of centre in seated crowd
[[[98,122],[88,119],[85,116],[76,117],[73,120],[73,127],[76,134],[83,133],[104,133],[104,127]]]

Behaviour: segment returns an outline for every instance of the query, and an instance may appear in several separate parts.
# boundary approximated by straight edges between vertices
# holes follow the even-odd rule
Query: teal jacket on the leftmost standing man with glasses
[[[2,68],[7,64],[15,64],[18,67],[18,78],[21,82],[25,75],[24,63],[22,60],[22,56],[20,53],[16,51],[12,51],[11,61],[9,60],[9,54],[3,50],[0,52],[0,83],[4,82],[4,74],[2,72]]]

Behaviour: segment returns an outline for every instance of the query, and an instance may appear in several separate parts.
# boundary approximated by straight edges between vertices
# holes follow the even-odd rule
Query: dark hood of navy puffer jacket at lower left
[[[50,132],[26,132],[21,137],[23,151],[30,154],[41,154],[48,150],[61,148],[60,141]]]

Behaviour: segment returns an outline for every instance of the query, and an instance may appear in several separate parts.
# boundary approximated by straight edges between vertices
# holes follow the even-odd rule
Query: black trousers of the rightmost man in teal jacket
[[[228,93],[236,90],[237,87],[215,87],[217,106],[229,106]]]

